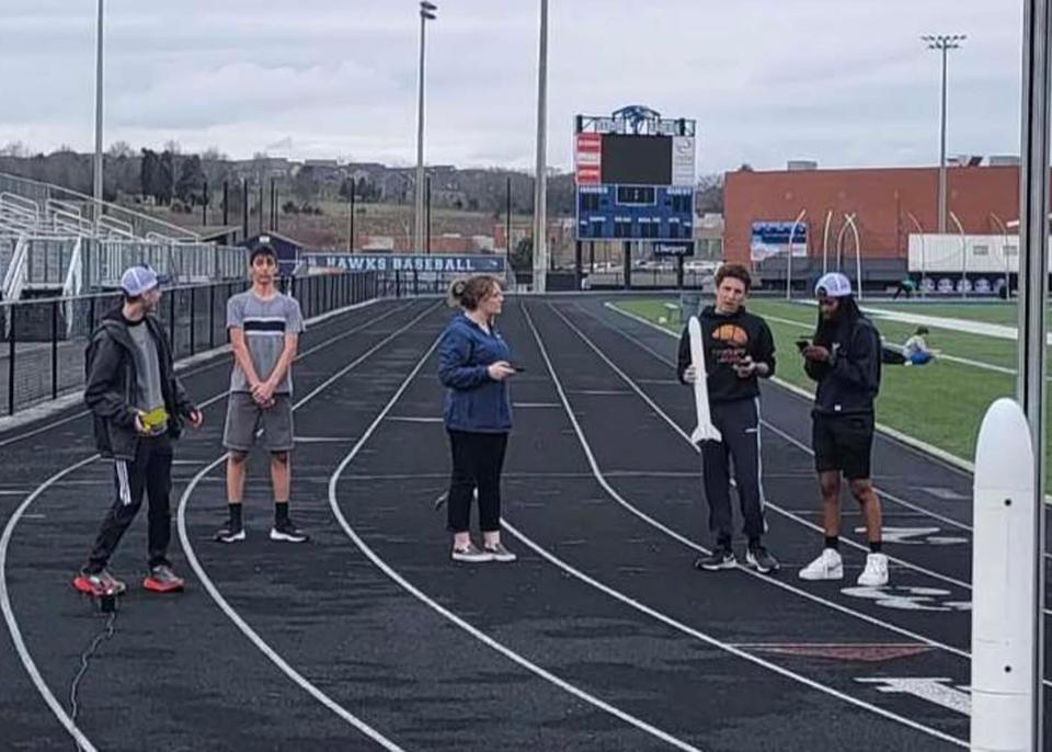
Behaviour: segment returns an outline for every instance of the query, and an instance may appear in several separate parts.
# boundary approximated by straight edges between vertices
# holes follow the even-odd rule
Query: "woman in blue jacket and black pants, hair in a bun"
[[[459,306],[442,334],[438,378],[446,387],[445,423],[453,452],[449,479],[449,529],[455,561],[514,561],[501,543],[501,470],[512,410],[511,351],[493,327],[504,290],[492,276],[457,280],[450,305]],[[471,498],[478,491],[482,548],[471,543]]]

